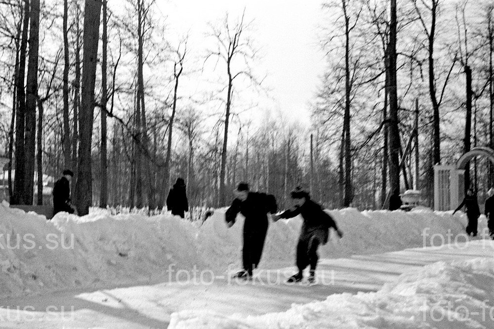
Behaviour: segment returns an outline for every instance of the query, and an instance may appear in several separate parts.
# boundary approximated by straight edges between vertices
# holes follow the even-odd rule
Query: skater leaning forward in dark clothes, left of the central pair
[[[268,212],[275,213],[278,209],[274,196],[250,192],[247,183],[240,183],[234,193],[235,200],[226,211],[225,220],[228,227],[232,227],[239,212],[245,217],[242,248],[243,270],[238,272],[236,277],[249,279],[261,260],[268,230],[267,214]]]

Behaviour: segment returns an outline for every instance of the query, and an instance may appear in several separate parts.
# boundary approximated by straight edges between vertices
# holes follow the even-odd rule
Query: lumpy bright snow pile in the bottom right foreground
[[[438,262],[377,292],[333,294],[262,316],[182,311],[169,328],[492,328],[494,261]]]

